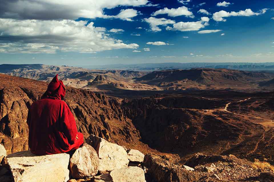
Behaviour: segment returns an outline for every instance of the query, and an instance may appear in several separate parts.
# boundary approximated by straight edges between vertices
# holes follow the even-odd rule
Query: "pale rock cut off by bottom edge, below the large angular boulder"
[[[144,170],[140,167],[114,169],[110,177],[113,182],[146,182]]]

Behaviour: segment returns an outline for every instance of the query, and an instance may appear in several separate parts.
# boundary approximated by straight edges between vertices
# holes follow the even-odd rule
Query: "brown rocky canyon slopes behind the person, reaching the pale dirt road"
[[[0,74],[0,143],[8,154],[28,149],[28,108],[46,88],[46,82]],[[228,154],[254,159],[270,142],[265,157],[271,162],[272,158],[266,154],[273,150],[274,141],[261,140],[265,128],[223,109],[236,100],[233,97],[243,100],[247,94],[222,94],[159,94],[121,100],[67,87],[65,99],[85,138],[94,134],[144,154],[166,155],[170,161],[180,163],[195,152],[225,154],[230,151]],[[273,132],[269,130],[265,136],[271,138]]]

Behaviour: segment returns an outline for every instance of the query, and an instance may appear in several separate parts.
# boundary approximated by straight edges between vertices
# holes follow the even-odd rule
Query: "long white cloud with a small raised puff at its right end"
[[[182,32],[185,31],[195,31],[204,28],[205,26],[209,25],[209,18],[202,17],[200,21],[197,22],[178,22],[173,24],[173,27],[167,26],[166,30],[179,30]]]

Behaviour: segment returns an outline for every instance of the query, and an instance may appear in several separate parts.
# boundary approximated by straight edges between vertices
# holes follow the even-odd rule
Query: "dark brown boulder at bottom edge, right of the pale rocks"
[[[185,182],[198,181],[202,174],[196,171],[189,171],[175,164],[170,164],[154,154],[147,154],[144,158],[144,167],[147,174],[158,182]]]

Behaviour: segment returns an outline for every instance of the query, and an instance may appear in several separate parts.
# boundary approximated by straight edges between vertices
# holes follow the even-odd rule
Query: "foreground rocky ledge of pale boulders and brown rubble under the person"
[[[6,155],[0,145],[0,182],[218,182],[274,181],[274,167],[233,155],[195,154],[184,164],[142,154],[90,135],[73,154]],[[259,164],[259,161],[257,161]],[[181,162],[182,163],[182,162]]]

